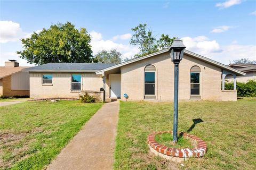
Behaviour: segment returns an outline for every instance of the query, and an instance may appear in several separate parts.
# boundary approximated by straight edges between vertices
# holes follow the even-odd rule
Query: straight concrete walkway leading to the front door
[[[106,103],[47,169],[113,169],[119,102]]]

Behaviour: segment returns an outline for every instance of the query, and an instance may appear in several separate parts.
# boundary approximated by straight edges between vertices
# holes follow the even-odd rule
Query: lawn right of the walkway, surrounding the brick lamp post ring
[[[256,100],[179,103],[178,130],[203,139],[207,152],[179,164],[150,154],[147,135],[172,130],[173,103],[121,102],[115,169],[256,169]]]

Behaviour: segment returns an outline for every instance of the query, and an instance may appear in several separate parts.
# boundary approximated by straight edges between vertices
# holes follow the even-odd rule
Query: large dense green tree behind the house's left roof
[[[76,29],[70,22],[51,25],[21,41],[23,50],[17,54],[29,63],[91,63],[94,60],[89,33],[85,28]]]

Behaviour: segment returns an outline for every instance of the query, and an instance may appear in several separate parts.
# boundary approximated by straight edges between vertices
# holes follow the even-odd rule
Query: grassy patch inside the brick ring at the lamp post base
[[[182,135],[178,135],[178,142],[174,144],[172,142],[173,138],[171,133],[156,134],[155,140],[158,143],[171,148],[195,148],[197,144],[196,141],[184,138]]]

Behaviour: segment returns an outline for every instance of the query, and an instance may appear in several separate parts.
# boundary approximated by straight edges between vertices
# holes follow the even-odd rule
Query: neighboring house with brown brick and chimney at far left
[[[15,60],[0,66],[0,96],[29,96],[29,74]]]

